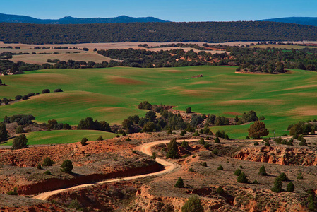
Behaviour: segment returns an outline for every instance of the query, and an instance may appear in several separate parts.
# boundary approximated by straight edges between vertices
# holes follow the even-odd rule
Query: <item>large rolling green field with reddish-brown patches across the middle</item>
[[[129,115],[143,116],[138,103],[174,105],[178,110],[234,117],[254,110],[265,116],[269,130],[284,134],[299,120],[317,119],[317,73],[294,70],[289,74],[241,74],[236,67],[193,66],[138,69],[49,69],[23,75],[1,76],[0,98],[14,98],[44,88],[61,88],[64,93],[40,94],[30,100],[0,107],[0,118],[33,114],[37,122],[57,119],[78,124],[92,117],[120,124]],[[202,78],[191,78],[203,74]],[[218,126],[232,138],[244,138],[249,126]]]

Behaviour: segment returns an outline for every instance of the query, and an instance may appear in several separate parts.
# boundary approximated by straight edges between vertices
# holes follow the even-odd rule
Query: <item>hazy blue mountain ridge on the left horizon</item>
[[[59,19],[39,19],[30,16],[7,15],[0,13],[0,23],[37,23],[37,24],[85,24],[85,23],[149,23],[169,22],[154,17],[133,18],[118,16],[115,18],[73,18],[66,16]]]

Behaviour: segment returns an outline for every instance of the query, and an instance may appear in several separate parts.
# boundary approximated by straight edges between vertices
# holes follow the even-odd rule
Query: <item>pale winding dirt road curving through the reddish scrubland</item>
[[[151,151],[151,147],[152,146],[156,146],[162,143],[169,143],[169,140],[164,140],[164,141],[153,141],[150,143],[144,143],[140,146],[137,146],[136,148],[145,153],[146,155],[152,155],[152,151]],[[79,189],[79,188],[83,188],[83,187],[90,187],[96,184],[103,184],[103,183],[107,183],[107,182],[119,182],[122,180],[131,180],[131,179],[138,179],[141,177],[149,177],[149,176],[157,176],[157,175],[162,175],[165,174],[167,172],[172,172],[172,170],[175,170],[179,167],[179,165],[175,164],[175,163],[171,163],[168,160],[164,160],[161,158],[156,158],[157,163],[160,163],[161,165],[163,165],[165,167],[164,170],[160,171],[160,172],[154,172],[154,173],[150,173],[150,174],[146,174],[146,175],[136,175],[133,177],[123,177],[123,178],[118,178],[118,179],[107,179],[104,181],[100,181],[100,182],[96,182],[96,183],[91,183],[91,184],[80,184],[78,186],[73,186],[73,187],[69,187],[67,189],[58,189],[58,190],[54,190],[54,191],[50,191],[50,192],[44,192],[42,194],[39,194],[37,196],[34,196],[34,199],[41,199],[41,200],[47,200],[49,198],[49,196],[52,196],[54,194],[59,194],[61,192],[66,192],[69,191],[71,189]]]

